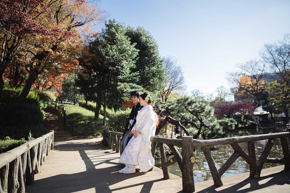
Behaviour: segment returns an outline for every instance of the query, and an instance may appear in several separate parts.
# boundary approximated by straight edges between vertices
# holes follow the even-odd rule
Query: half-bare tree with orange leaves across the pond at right
[[[228,80],[233,84],[231,88],[235,100],[250,99],[255,104],[260,105],[260,98],[264,90],[264,64],[260,61],[250,60],[238,67],[242,70],[240,73],[230,73]]]

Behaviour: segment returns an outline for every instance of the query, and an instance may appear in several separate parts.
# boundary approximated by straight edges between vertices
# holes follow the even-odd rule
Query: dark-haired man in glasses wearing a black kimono
[[[126,145],[128,144],[128,142],[130,141],[130,139],[134,135],[131,132],[131,129],[133,128],[133,126],[136,123],[136,116],[137,116],[138,111],[140,109],[142,109],[142,107],[143,107],[139,103],[139,96],[140,96],[139,91],[137,91],[137,90],[132,91],[130,96],[131,96],[132,102],[134,103],[134,106],[132,107],[131,113],[130,113],[128,120],[127,120],[127,123],[125,125],[125,130],[124,130],[122,141],[120,144],[120,154],[121,155],[122,155]]]

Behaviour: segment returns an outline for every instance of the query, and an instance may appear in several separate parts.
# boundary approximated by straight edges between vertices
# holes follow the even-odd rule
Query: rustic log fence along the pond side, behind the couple
[[[104,130],[104,146],[109,145],[109,149],[119,152],[120,136],[123,133]],[[164,179],[169,179],[168,166],[178,163],[182,172],[182,188],[186,192],[194,192],[194,179],[193,179],[193,164],[195,162],[193,148],[201,147],[209,165],[211,175],[215,185],[222,186],[221,176],[224,172],[235,162],[238,157],[242,157],[250,167],[250,177],[259,178],[264,163],[279,163],[284,164],[285,169],[290,169],[290,154],[287,137],[290,140],[290,132],[271,133],[263,135],[242,136],[234,138],[221,138],[212,140],[196,140],[192,136],[183,136],[182,139],[170,139],[161,137],[151,137],[151,151],[155,155],[156,145],[158,143],[161,155],[161,163]],[[276,138],[280,138],[283,158],[268,158],[269,152],[274,144]],[[255,155],[255,141],[268,140],[260,158],[256,159]],[[248,154],[238,145],[238,143],[248,143]],[[164,144],[166,144],[173,153],[173,157],[166,160]],[[211,156],[209,147],[215,145],[230,144],[234,152],[231,157],[219,168],[215,166],[215,161]],[[175,146],[182,147],[182,155],[179,153]]]

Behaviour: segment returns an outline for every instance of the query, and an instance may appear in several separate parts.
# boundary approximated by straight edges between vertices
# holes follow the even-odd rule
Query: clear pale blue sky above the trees
[[[162,57],[182,67],[187,91],[230,88],[227,72],[290,33],[290,1],[101,0],[107,20],[149,31]]]

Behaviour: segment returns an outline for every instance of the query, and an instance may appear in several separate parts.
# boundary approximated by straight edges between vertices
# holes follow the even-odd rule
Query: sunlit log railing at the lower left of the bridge
[[[24,143],[10,151],[0,153],[0,193],[25,192],[34,174],[53,150],[54,131]]]

